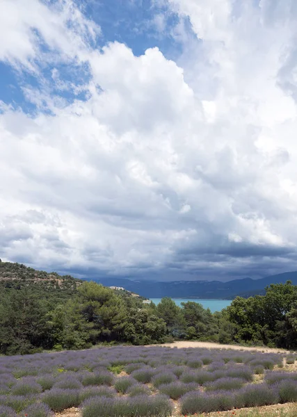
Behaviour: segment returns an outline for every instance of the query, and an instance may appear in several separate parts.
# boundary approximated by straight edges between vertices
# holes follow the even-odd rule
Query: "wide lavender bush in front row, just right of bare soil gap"
[[[227,411],[234,407],[234,395],[226,391],[214,393],[191,392],[181,398],[182,414]]]

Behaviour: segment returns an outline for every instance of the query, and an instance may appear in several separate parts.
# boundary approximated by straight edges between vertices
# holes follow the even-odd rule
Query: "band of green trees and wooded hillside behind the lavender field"
[[[211,313],[196,302],[143,304],[92,281],[0,263],[1,354],[174,340],[296,349],[297,286],[271,284],[265,295],[236,297]]]

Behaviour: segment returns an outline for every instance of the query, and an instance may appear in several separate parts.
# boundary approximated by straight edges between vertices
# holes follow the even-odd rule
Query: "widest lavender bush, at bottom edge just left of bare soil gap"
[[[90,398],[83,402],[82,407],[83,417],[166,417],[172,413],[172,404],[163,395]]]

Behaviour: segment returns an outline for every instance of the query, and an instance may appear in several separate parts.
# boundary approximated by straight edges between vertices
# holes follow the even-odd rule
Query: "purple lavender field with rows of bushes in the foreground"
[[[0,417],[166,417],[297,402],[294,354],[170,347],[0,357]]]

